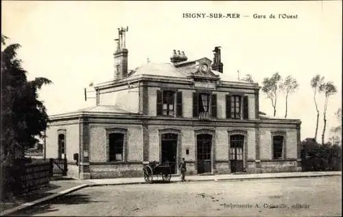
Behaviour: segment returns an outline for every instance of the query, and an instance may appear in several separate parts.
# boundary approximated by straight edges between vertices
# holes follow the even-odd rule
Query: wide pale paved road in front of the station
[[[342,216],[341,176],[87,187],[23,216]]]

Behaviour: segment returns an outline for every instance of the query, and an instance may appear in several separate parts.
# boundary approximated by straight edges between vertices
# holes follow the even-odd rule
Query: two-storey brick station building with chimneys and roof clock
[[[301,170],[300,120],[260,113],[259,84],[226,75],[220,47],[213,61],[174,50],[168,63],[128,70],[126,31],[95,106],[50,116],[47,157],[66,157],[70,176],[142,176],[145,161],[178,174],[182,158],[189,174]]]

